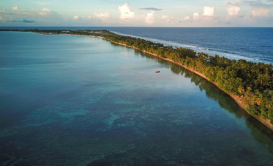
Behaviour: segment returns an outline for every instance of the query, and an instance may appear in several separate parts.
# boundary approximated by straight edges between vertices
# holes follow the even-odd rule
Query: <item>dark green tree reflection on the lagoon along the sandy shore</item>
[[[159,63],[166,65],[170,64],[169,61],[162,60],[160,58],[154,57],[153,55],[145,54],[138,50],[136,52],[140,52],[140,54],[142,56],[145,56],[146,58],[157,59]],[[257,140],[267,144],[270,147],[271,151],[273,150],[273,145],[271,145],[271,141],[273,141],[272,131],[264,124],[262,124],[260,121],[249,115],[244,109],[242,109],[236,103],[236,101],[233,100],[231,96],[223,92],[216,85],[212,84],[205,78],[201,77],[196,73],[191,72],[190,70],[183,68],[182,66],[171,64],[170,69],[173,73],[177,75],[184,75],[185,78],[190,78],[191,82],[198,86],[200,91],[206,91],[206,96],[217,101],[219,103],[219,106],[221,106],[223,109],[234,114],[238,118],[244,117],[246,121],[246,126],[251,130],[253,136]],[[264,134],[271,141],[260,138],[260,134],[257,134],[257,132]]]

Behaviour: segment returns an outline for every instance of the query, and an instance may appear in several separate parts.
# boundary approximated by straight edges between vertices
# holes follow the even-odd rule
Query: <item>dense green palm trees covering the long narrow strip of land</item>
[[[1,29],[0,31],[11,31]],[[47,34],[76,34],[101,36],[113,42],[157,54],[162,58],[170,59],[195,70],[212,82],[217,82],[226,93],[238,95],[245,101],[247,112],[252,116],[270,119],[273,124],[273,65],[264,62],[253,63],[246,60],[229,60],[215,54],[196,53],[192,49],[163,46],[131,36],[121,36],[107,30],[12,30]]]

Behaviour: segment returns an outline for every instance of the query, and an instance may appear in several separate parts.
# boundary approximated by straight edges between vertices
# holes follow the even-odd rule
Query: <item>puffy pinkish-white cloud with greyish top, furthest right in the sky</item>
[[[262,3],[261,1],[257,3],[251,3],[249,4],[250,7],[252,7],[252,10],[250,10],[250,13],[256,17],[266,17],[269,16],[269,11],[272,7],[272,5],[267,5]]]

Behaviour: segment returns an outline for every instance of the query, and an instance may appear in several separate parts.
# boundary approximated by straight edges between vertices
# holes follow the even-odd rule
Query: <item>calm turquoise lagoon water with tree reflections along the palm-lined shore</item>
[[[273,165],[272,131],[182,67],[94,37],[0,42],[0,165]]]

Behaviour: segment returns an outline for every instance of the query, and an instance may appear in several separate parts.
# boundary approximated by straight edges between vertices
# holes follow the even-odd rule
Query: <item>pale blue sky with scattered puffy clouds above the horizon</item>
[[[0,26],[272,27],[273,0],[1,0]]]

